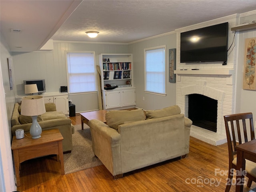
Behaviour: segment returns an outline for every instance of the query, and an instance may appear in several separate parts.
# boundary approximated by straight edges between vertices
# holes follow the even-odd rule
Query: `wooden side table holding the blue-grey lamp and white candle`
[[[63,137],[60,131],[58,129],[43,131],[38,139],[32,139],[30,134],[27,134],[27,136],[22,139],[16,139],[16,136],[12,138],[17,186],[20,186],[20,163],[40,156],[57,154],[57,160],[60,161],[61,174],[63,175]]]

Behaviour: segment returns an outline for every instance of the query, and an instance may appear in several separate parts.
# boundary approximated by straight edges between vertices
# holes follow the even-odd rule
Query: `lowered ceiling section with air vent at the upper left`
[[[79,0],[0,0],[0,30],[12,51],[39,50],[80,4]],[[20,29],[21,32],[12,32]]]

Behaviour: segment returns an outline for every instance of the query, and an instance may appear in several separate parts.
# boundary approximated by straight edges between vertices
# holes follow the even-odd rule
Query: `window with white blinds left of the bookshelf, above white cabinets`
[[[68,92],[97,90],[94,52],[67,52]]]

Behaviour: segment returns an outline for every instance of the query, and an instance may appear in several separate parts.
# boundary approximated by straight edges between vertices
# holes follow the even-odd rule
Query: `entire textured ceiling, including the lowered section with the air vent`
[[[0,0],[0,30],[12,51],[24,52],[49,39],[131,43],[252,10],[256,0]]]

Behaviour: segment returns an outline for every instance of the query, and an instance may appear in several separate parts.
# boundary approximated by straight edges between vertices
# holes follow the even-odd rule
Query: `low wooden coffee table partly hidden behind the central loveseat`
[[[88,122],[92,119],[98,119],[101,122],[106,123],[106,112],[106,110],[98,110],[80,113],[82,130],[84,129],[84,123],[88,125]]]

